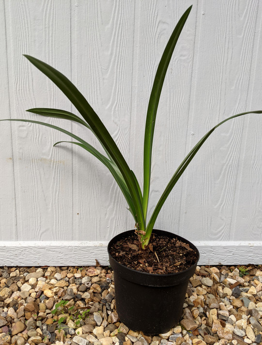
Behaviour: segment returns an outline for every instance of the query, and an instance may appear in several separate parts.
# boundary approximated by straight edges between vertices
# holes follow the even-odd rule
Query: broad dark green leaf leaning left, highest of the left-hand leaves
[[[66,97],[77,108],[79,113],[83,116],[85,121],[92,128],[93,133],[99,138],[103,146],[108,151],[110,157],[114,160],[118,166],[120,172],[123,175],[127,188],[130,192],[133,204],[135,205],[136,215],[138,219],[138,227],[141,230],[145,230],[145,219],[142,210],[142,202],[139,197],[139,191],[133,175],[122,156],[118,146],[109,134],[107,128],[92,109],[85,97],[77,90],[76,86],[66,78],[61,72],[51,67],[47,63],[44,63],[38,59],[35,59],[29,55],[24,55],[36,68],[52,80],[59,89],[66,95]]]

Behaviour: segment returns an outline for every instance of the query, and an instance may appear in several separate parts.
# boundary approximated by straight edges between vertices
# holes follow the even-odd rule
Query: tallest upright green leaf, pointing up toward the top
[[[190,6],[180,18],[174,31],[172,32],[168,44],[164,50],[160,63],[158,65],[156,75],[154,78],[154,84],[151,91],[147,117],[145,126],[145,138],[144,138],[144,185],[143,185],[143,210],[144,218],[146,219],[149,189],[150,189],[150,176],[151,176],[151,160],[152,160],[152,146],[154,137],[154,125],[155,117],[157,112],[157,107],[159,103],[159,98],[164,83],[164,79],[167,73],[167,69],[170,63],[170,59],[174,48],[176,46],[177,40],[180,33],[185,25],[186,19],[191,11],[192,6]]]

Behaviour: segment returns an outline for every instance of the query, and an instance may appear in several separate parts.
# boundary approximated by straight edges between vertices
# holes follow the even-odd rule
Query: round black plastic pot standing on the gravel
[[[120,320],[132,330],[145,334],[159,334],[175,327],[181,317],[189,278],[195,272],[198,249],[185,238],[167,231],[153,230],[188,243],[198,254],[196,263],[185,271],[173,274],[139,272],[119,264],[111,255],[110,247],[133,233],[123,232],[108,243],[109,262],[114,270],[116,311]]]

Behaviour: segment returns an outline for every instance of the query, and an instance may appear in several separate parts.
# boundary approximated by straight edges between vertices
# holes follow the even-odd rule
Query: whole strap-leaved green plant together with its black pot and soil
[[[179,165],[160,196],[151,218],[147,220],[152,145],[158,102],[173,50],[191,7],[185,11],[172,32],[154,78],[144,135],[143,191],[135,173],[129,168],[115,141],[88,101],[68,78],[47,63],[25,55],[35,67],[60,88],[82,117],[59,109],[35,108],[27,111],[75,121],[85,126],[100,141],[105,155],[88,142],[58,126],[34,120],[8,119],[9,121],[45,125],[67,134],[75,141],[59,141],[54,146],[61,142],[70,142],[81,146],[98,158],[112,173],[123,192],[128,209],[135,221],[135,230],[115,236],[108,244],[109,261],[114,269],[117,312],[121,321],[129,328],[142,330],[149,334],[166,332],[178,323],[183,309],[187,284],[189,278],[194,274],[199,260],[199,251],[185,238],[172,232],[153,230],[161,207],[188,164],[218,126],[237,116],[262,113],[262,110],[257,110],[236,114],[220,122],[206,133]]]

